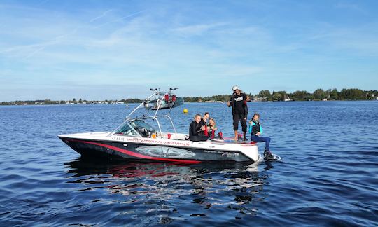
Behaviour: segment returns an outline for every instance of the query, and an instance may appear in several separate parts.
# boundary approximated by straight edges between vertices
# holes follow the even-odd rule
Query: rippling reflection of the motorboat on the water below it
[[[267,196],[263,189],[268,176],[258,172],[257,163],[104,163],[82,157],[66,168],[67,183],[76,184],[78,192],[100,190],[101,202],[132,204],[122,212],[132,214],[124,217],[132,220],[148,215],[158,223],[177,223],[193,216],[216,220],[223,213],[223,219],[235,220],[258,212]]]

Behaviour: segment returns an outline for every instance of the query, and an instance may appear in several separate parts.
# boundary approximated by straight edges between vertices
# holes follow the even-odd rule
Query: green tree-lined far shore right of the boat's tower
[[[321,88],[314,92],[306,90],[297,90],[289,93],[284,90],[273,91],[261,90],[256,95],[247,94],[255,101],[312,101],[312,100],[372,100],[377,99],[377,90],[361,90],[358,88],[342,89],[338,91],[336,88],[323,90]],[[184,97],[185,102],[227,102],[231,95],[213,95],[209,97]]]

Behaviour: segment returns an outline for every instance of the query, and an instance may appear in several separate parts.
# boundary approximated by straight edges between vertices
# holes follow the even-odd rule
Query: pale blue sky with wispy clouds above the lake
[[[0,1],[0,101],[378,89],[378,1]]]

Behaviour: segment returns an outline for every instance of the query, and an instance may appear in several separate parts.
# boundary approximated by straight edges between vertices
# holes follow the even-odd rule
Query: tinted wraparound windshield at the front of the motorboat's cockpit
[[[155,133],[156,130],[151,125],[148,125],[143,120],[136,119],[132,121],[125,122],[116,134],[130,135],[134,137],[150,137],[151,134]]]

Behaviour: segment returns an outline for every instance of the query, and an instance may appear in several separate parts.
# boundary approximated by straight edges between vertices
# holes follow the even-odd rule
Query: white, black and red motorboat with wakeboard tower
[[[258,162],[255,142],[221,139],[193,142],[188,134],[177,132],[171,110],[183,104],[183,99],[176,97],[176,89],[170,88],[168,92],[151,89],[153,93],[131,111],[116,130],[58,137],[82,156],[177,163]],[[163,120],[168,123],[162,123]],[[172,129],[163,131],[162,126],[167,125]]]

